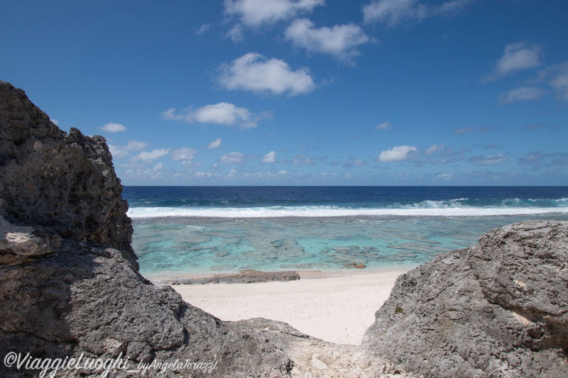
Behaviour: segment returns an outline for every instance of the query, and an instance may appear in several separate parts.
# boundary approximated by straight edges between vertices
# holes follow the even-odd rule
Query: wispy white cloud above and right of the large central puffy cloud
[[[358,45],[371,40],[359,26],[349,24],[317,29],[306,18],[293,21],[285,35],[286,39],[310,52],[323,52],[345,62],[351,62],[353,57],[359,55],[356,49]]]

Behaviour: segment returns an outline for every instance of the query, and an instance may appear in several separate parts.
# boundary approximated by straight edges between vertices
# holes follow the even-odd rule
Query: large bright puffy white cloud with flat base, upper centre
[[[230,65],[223,65],[221,72],[219,84],[229,90],[268,91],[273,94],[288,92],[290,96],[295,96],[313,91],[316,87],[307,68],[292,71],[283,60],[266,60],[256,52],[249,52]]]

